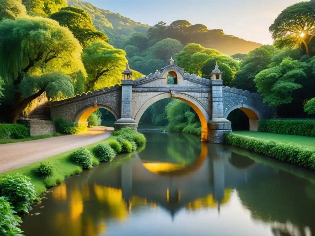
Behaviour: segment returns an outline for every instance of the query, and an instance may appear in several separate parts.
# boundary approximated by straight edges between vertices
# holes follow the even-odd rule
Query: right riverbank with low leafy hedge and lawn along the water
[[[292,137],[287,137],[288,135],[278,135],[278,134],[264,134],[256,132],[247,132],[247,134],[252,136],[241,135],[241,132],[231,133],[225,135],[225,143],[233,145],[238,148],[247,149],[254,151],[256,153],[289,162],[297,166],[302,166],[310,170],[315,170],[315,148],[312,146],[312,141],[303,143],[301,139],[311,138],[315,141],[314,137],[302,137],[289,135]],[[285,137],[280,140],[286,141],[280,142],[275,138],[271,137]],[[257,138],[260,137],[260,138]],[[269,137],[270,139],[264,139],[262,137]],[[296,144],[294,142],[296,140]]]

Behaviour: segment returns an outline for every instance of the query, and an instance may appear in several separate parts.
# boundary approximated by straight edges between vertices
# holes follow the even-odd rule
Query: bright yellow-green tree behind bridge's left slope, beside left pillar
[[[87,89],[100,89],[120,84],[127,59],[122,49],[104,41],[92,42],[83,49],[82,61],[88,74]]]

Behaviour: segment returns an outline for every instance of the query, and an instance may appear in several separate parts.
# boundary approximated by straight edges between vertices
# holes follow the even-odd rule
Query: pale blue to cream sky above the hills
[[[282,10],[301,0],[82,0],[153,26],[175,20],[222,29],[248,41],[272,44],[269,26]]]

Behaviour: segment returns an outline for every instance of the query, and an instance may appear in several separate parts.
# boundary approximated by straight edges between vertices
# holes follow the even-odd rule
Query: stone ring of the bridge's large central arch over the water
[[[200,122],[201,122],[201,140],[204,142],[208,141],[208,122],[210,121],[210,116],[207,109],[195,98],[184,94],[184,93],[175,93],[175,96],[172,96],[171,93],[161,93],[152,98],[150,98],[145,104],[143,104],[140,109],[136,112],[134,120],[139,123],[141,116],[153,103],[162,100],[164,98],[176,98],[179,99],[192,107],[197,113]]]

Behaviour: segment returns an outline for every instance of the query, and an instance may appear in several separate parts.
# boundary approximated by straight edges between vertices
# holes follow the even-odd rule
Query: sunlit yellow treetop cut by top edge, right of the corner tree
[[[29,15],[43,17],[47,17],[60,8],[67,6],[66,0],[22,0],[22,3],[26,6]]]

